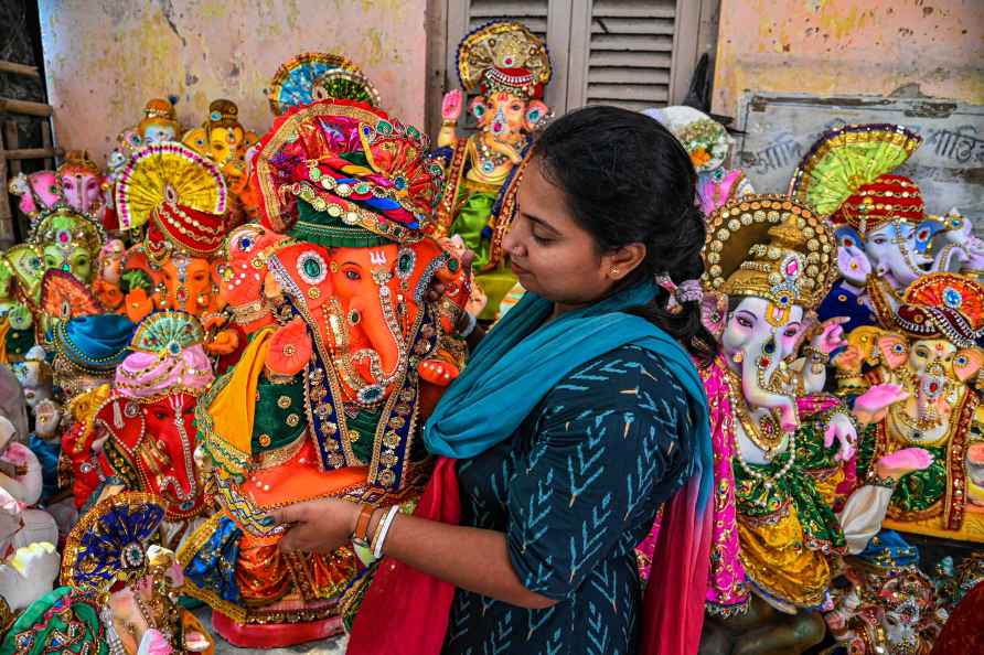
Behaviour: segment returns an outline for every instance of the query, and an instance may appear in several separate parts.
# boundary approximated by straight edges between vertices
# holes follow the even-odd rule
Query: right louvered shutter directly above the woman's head
[[[567,106],[682,101],[699,11],[697,0],[574,0]]]

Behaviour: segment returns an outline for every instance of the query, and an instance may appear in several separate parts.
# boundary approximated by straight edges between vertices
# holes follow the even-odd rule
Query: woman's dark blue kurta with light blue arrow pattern
[[[691,421],[659,357],[625,346],[568,375],[511,439],[460,462],[461,525],[505,533],[523,584],[559,602],[524,610],[459,589],[443,652],[634,653],[634,548],[683,484]]]

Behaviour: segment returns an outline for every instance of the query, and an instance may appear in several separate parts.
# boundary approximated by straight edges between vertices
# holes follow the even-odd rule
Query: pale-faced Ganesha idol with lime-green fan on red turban
[[[790,194],[837,227],[844,279],[819,314],[847,316],[847,332],[890,326],[899,297],[926,273],[984,269],[984,244],[971,221],[927,215],[918,184],[892,173],[921,142],[902,126],[845,126],[822,135],[793,173]]]

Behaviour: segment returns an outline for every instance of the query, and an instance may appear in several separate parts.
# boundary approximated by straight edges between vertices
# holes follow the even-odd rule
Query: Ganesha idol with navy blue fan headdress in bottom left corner
[[[66,543],[62,587],[26,608],[0,635],[12,655],[212,655],[214,643],[175,597],[174,554],[151,545],[164,515],[149,494],[101,500]]]

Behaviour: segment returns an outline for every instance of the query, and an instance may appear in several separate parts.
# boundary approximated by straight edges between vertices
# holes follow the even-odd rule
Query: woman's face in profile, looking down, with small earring
[[[571,216],[565,193],[544,178],[537,160],[523,173],[516,217],[503,247],[520,283],[561,309],[603,298],[638,265],[619,267],[619,256],[599,251]]]

